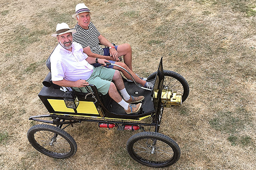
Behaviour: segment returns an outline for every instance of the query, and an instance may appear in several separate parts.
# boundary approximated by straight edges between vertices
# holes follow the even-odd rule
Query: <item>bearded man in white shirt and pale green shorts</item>
[[[88,57],[83,53],[82,46],[73,42],[72,33],[75,32],[76,30],[70,29],[66,23],[61,23],[56,27],[56,34],[52,34],[59,42],[50,57],[52,82],[64,87],[77,88],[93,84],[103,95],[108,93],[126,113],[138,112],[142,104],[131,103],[141,102],[144,96],[130,96],[119,71],[102,66],[95,68],[91,65],[93,63],[106,65],[105,62],[108,60]]]

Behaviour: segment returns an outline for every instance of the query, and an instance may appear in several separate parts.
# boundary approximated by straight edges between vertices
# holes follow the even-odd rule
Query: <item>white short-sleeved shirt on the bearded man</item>
[[[85,60],[88,56],[83,53],[82,46],[73,42],[71,48],[72,51],[68,51],[58,44],[52,52],[50,57],[52,81],[87,80],[93,73],[93,66]]]

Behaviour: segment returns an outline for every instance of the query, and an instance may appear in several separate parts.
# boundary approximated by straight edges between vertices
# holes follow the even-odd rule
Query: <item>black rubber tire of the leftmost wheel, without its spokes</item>
[[[50,150],[47,150],[46,148],[42,147],[40,144],[38,144],[38,142],[35,140],[35,133],[37,133],[38,131],[49,131],[52,133],[57,133],[58,136],[63,137],[69,144],[70,144],[70,151],[67,153],[55,153],[52,152]],[[57,138],[58,138],[57,136]],[[53,157],[53,158],[59,158],[59,159],[63,159],[63,158],[69,158],[70,156],[73,156],[76,153],[77,150],[77,145],[76,145],[76,141],[73,139],[72,136],[70,136],[70,134],[68,134],[67,132],[65,132],[64,130],[52,126],[52,125],[35,125],[32,126],[29,131],[27,132],[27,138],[29,140],[29,143],[32,144],[32,146],[38,150],[39,152]]]

